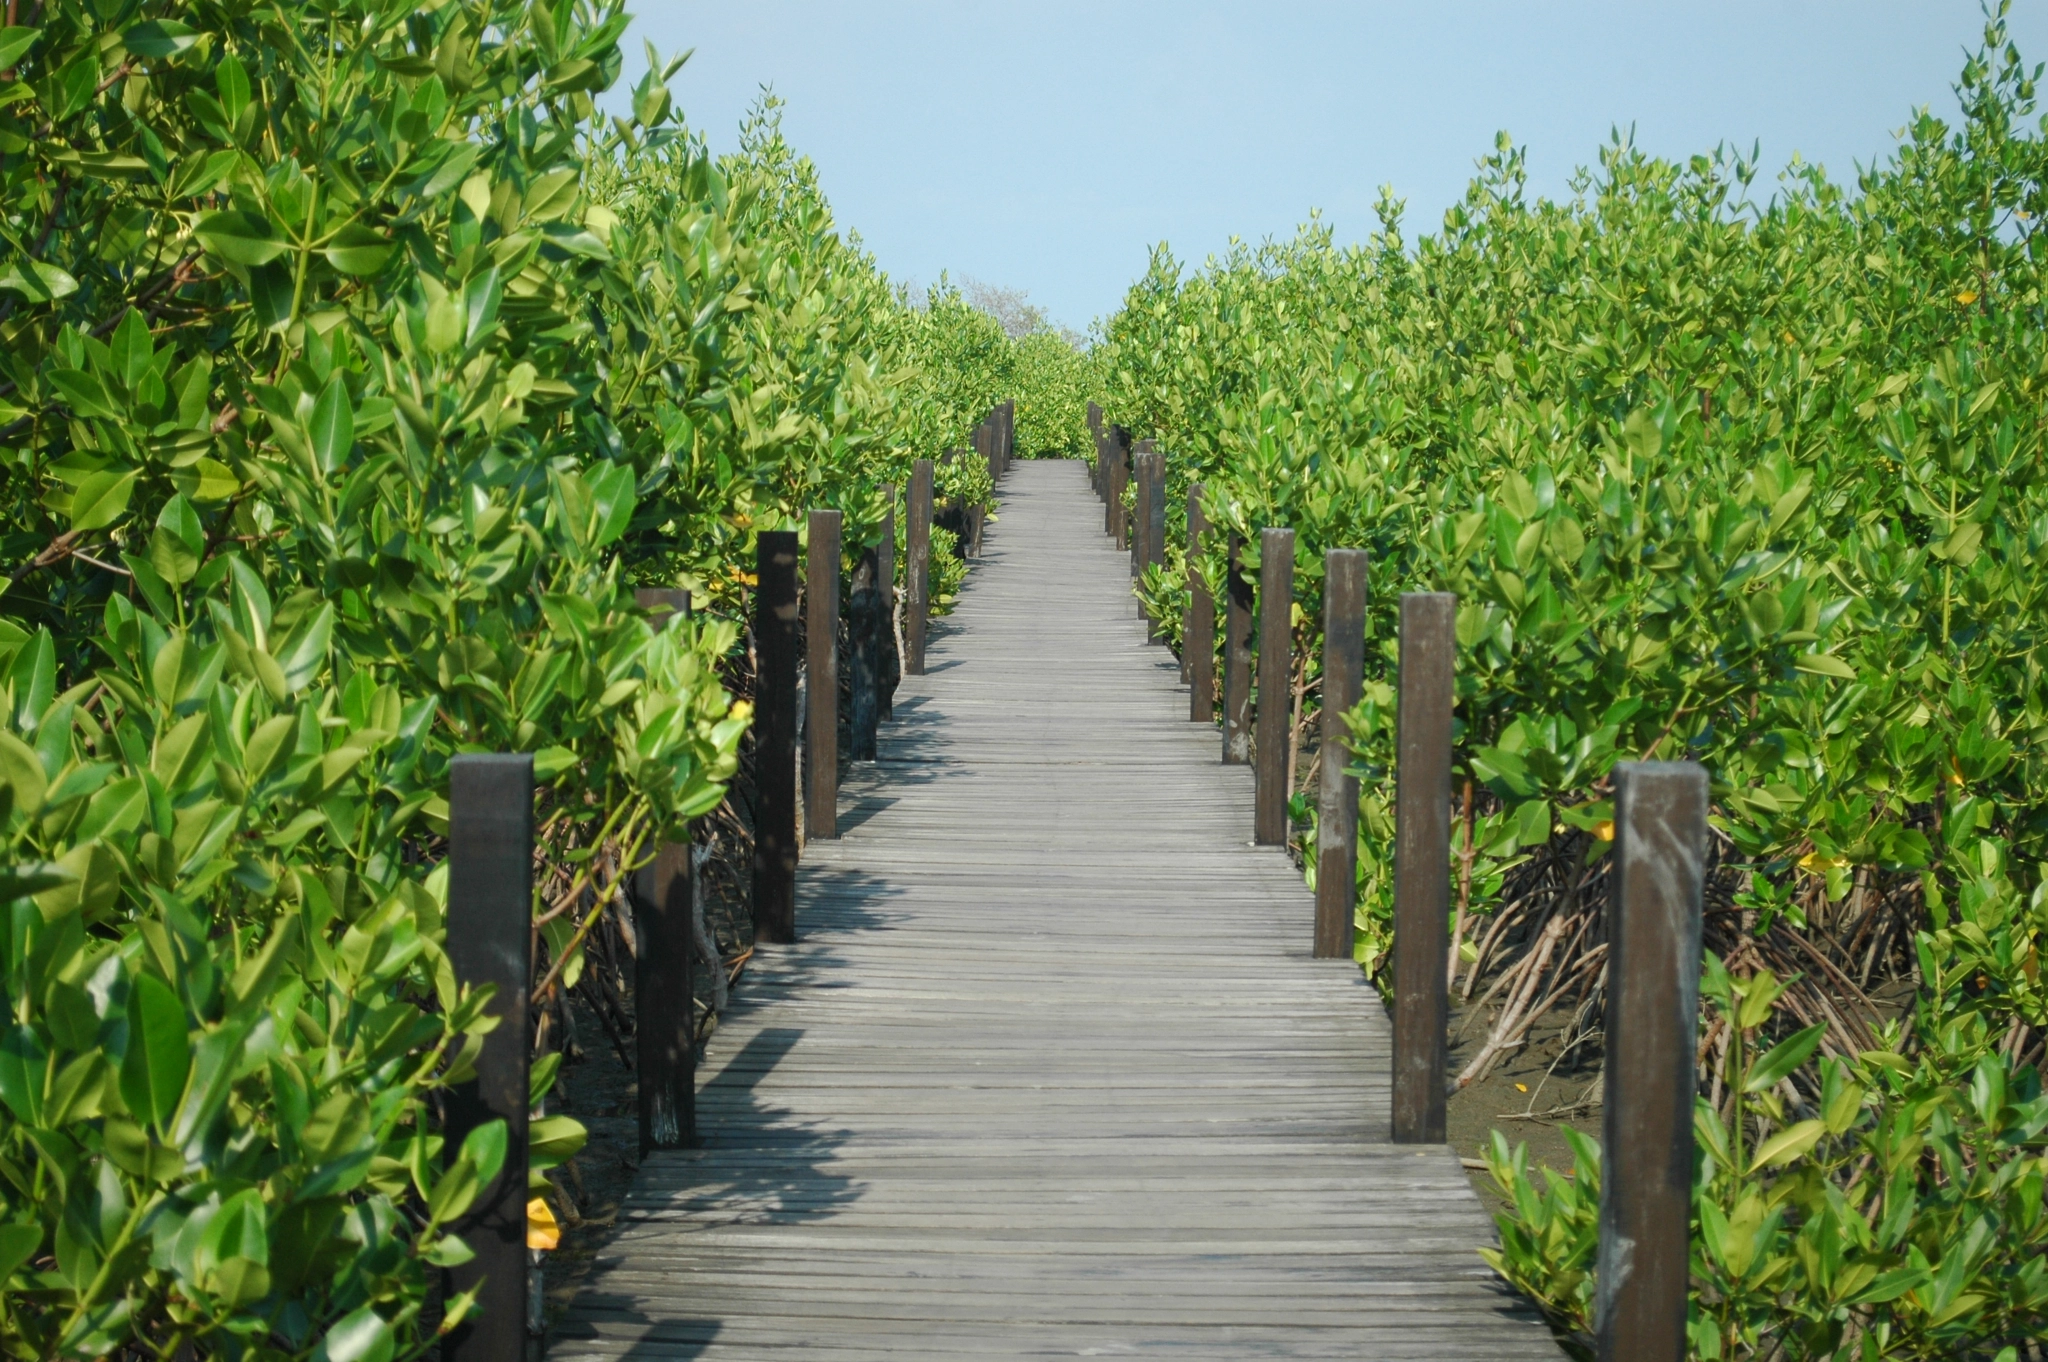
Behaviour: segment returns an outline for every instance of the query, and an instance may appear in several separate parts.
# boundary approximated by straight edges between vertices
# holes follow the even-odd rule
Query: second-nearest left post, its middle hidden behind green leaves
[[[643,586],[635,600],[662,629],[690,592]],[[662,842],[633,887],[633,1045],[641,1157],[696,1143],[696,983],[690,842]]]

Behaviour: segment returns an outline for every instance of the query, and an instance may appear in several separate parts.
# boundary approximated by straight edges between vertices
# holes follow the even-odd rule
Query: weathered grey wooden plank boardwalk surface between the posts
[[[1546,1358],[1077,463],[1018,463],[553,1362]]]

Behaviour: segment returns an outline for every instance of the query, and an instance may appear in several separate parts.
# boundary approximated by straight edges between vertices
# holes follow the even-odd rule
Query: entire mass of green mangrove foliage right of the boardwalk
[[[1794,166],[1759,201],[1747,160],[1616,141],[1552,203],[1501,137],[1440,233],[1409,244],[1386,199],[1364,248],[1311,221],[1194,272],[1161,250],[1100,346],[1169,496],[1202,481],[1251,543],[1296,530],[1311,686],[1323,551],[1370,551],[1368,969],[1401,592],[1458,594],[1468,952],[1532,897],[1604,893],[1614,762],[1712,772],[1708,930],[1751,977],[1708,987],[1731,1049],[1700,1124],[1700,1356],[1991,1356],[2042,1327],[2048,139],[2001,14],[1964,121],[1915,115],[1853,195]],[[1217,594],[1223,541],[1194,563]],[[1178,573],[1141,586],[1169,627]],[[1597,938],[1526,954],[1552,971],[1528,993],[1597,1010]],[[1749,1002],[1778,989],[1763,952],[1792,961],[1786,1018],[1841,1004],[1800,1012],[1823,1032]],[[1911,1026],[1849,1006],[1872,975],[1921,985]],[[1501,1270],[1583,1327],[1597,1151],[1573,1180],[1495,1167]]]

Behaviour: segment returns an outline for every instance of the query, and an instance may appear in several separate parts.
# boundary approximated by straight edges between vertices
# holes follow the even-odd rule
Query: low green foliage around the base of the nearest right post
[[[1972,926],[2007,940],[2019,926],[2030,952],[2048,928],[2048,895],[2021,903],[1997,872],[1970,897]],[[1812,1067],[1825,1026],[1772,1042],[1784,985],[1708,956],[1720,1057],[1694,1116],[1692,1356],[1989,1358],[2040,1335],[2048,1096],[2003,1051],[2015,1014],[1972,987],[1982,961],[1958,940],[1921,934],[1929,987],[1911,1026]],[[1802,1069],[1806,1090],[1790,1081]],[[1599,1145],[1567,1135],[1573,1176],[1538,1178],[1495,1133],[1487,1167],[1509,1208],[1483,1253],[1591,1356]]]

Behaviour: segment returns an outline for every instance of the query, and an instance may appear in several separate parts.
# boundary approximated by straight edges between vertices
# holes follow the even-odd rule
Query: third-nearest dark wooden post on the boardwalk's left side
[[[797,940],[797,530],[754,555],[754,940]]]

